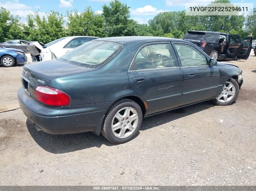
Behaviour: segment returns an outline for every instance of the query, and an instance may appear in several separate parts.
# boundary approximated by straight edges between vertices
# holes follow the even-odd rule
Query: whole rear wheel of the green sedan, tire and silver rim
[[[132,100],[121,99],[108,110],[101,134],[112,143],[122,144],[137,135],[141,122],[140,106]]]

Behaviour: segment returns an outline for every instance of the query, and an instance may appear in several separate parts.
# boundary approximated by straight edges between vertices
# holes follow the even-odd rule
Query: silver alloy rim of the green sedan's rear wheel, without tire
[[[138,113],[132,107],[124,107],[119,110],[111,123],[113,134],[118,138],[130,136],[138,126]]]

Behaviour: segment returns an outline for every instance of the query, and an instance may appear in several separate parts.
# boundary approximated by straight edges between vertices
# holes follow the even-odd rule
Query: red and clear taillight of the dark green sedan
[[[50,106],[68,106],[71,98],[65,92],[48,86],[35,88],[35,99]]]

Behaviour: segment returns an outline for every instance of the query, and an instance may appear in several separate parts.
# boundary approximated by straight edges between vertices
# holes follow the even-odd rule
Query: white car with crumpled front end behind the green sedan
[[[73,36],[63,37],[47,44],[38,41],[28,45],[28,51],[32,57],[32,62],[56,59],[74,48],[98,37]]]

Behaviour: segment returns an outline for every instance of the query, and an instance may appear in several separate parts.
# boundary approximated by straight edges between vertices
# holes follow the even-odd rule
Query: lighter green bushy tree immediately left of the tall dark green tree
[[[94,36],[103,37],[104,17],[95,14],[91,7],[83,12],[67,11],[67,33],[69,36]]]

